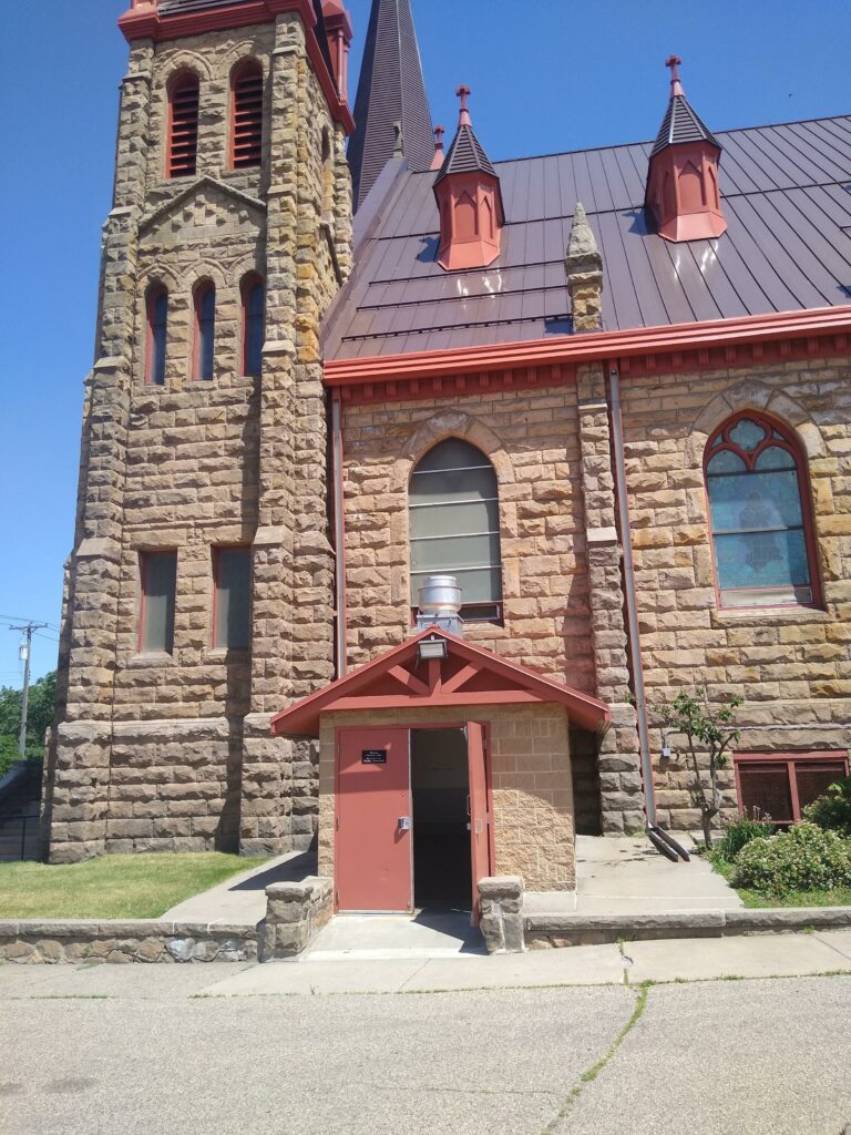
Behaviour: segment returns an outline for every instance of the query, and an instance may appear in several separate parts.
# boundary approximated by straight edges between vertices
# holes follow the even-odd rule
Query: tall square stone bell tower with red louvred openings
[[[351,266],[348,16],[133,0],[45,771],[54,863],[280,851],[271,713],[334,676],[319,323]]]

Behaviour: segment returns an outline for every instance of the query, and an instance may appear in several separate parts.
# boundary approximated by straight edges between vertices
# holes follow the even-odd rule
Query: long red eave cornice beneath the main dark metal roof
[[[851,305],[701,323],[565,335],[525,343],[331,359],[325,385],[344,401],[393,401],[572,381],[578,367],[620,360],[623,375],[748,367],[851,353]]]

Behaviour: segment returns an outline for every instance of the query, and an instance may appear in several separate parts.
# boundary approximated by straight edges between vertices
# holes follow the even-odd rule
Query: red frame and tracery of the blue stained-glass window
[[[752,452],[745,452],[734,442],[728,440],[728,432],[733,429],[742,419],[749,419],[761,426],[766,431],[766,437]],[[777,432],[781,436],[775,437],[774,434]],[[717,439],[722,439],[722,445],[716,446]],[[736,456],[741,457],[748,469],[752,469],[757,457],[760,453],[770,447],[777,446],[781,449],[785,449],[795,463],[795,474],[798,477],[798,491],[801,498],[801,518],[803,527],[803,538],[807,549],[807,564],[809,568],[810,575],[810,590],[812,598],[810,603],[772,603],[772,604],[742,604],[734,606],[732,604],[724,603],[724,589],[721,586],[721,580],[718,578],[718,566],[715,553],[715,528],[713,524],[713,512],[709,503],[709,473],[708,465],[709,462],[718,453],[730,451],[735,453]],[[821,580],[818,570],[818,555],[817,555],[817,544],[816,544],[816,528],[812,519],[812,502],[810,499],[807,487],[810,482],[809,466],[807,464],[807,455],[803,448],[789,427],[784,426],[783,422],[776,421],[774,418],[769,418],[767,414],[760,413],[756,410],[740,410],[738,413],[727,418],[713,434],[706,444],[706,449],[703,451],[703,494],[706,497],[706,515],[709,524],[709,543],[711,547],[711,560],[713,560],[713,578],[715,581],[715,597],[716,603],[719,608],[724,611],[770,611],[772,607],[811,607],[819,608],[824,605],[821,595]],[[750,590],[759,591],[760,588],[751,588]]]

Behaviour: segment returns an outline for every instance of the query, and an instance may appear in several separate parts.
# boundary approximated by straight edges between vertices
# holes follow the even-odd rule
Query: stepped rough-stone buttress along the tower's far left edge
[[[115,648],[118,632],[124,480],[133,369],[137,229],[144,202],[153,44],[130,51],[121,85],[112,211],[103,229],[96,361],[86,379],[83,460],[71,581],[59,678],[65,705],[51,758],[45,813],[50,858],[68,863],[103,850]]]

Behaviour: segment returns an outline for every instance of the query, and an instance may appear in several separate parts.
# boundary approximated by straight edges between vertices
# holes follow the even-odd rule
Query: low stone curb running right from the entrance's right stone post
[[[529,944],[588,945],[618,938],[724,938],[851,927],[851,907],[765,907],[752,910],[676,910],[647,915],[547,915],[523,919]]]

